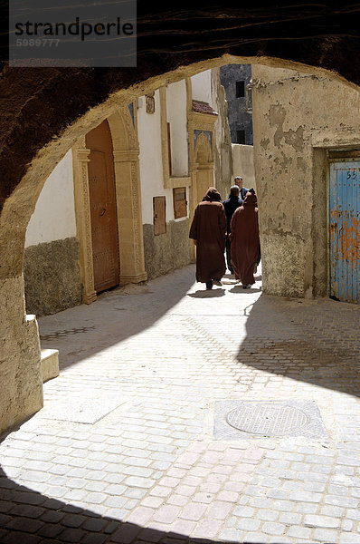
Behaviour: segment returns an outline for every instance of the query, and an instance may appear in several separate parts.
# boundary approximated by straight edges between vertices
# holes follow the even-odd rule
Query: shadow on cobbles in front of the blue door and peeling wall
[[[240,363],[360,396],[359,307],[263,295],[248,316]]]

